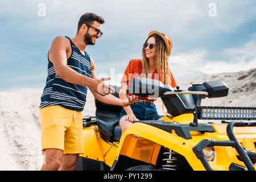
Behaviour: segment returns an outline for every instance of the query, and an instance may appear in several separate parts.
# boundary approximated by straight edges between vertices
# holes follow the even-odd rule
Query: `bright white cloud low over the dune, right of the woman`
[[[176,77],[185,77],[199,72],[204,74],[238,72],[256,67],[255,39],[237,48],[226,48],[221,57],[227,60],[207,59],[209,51],[206,49],[193,49],[190,52],[181,52],[170,57],[170,67]]]

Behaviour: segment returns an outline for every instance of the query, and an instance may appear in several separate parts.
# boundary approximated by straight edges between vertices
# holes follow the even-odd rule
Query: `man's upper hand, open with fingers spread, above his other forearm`
[[[96,92],[100,94],[101,96],[106,96],[112,92],[115,92],[115,89],[113,89],[111,86],[106,85],[104,81],[108,81],[111,78],[96,78],[93,79],[93,83],[88,86],[92,92]]]

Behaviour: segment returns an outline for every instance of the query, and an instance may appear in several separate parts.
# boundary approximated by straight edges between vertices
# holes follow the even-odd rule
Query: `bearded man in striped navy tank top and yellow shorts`
[[[74,170],[83,153],[82,110],[87,87],[102,102],[127,106],[137,100],[132,96],[121,100],[109,94],[113,88],[97,78],[94,62],[85,52],[102,36],[104,19],[94,13],[81,16],[74,38],[57,36],[48,52],[48,74],[40,104],[42,170]]]

